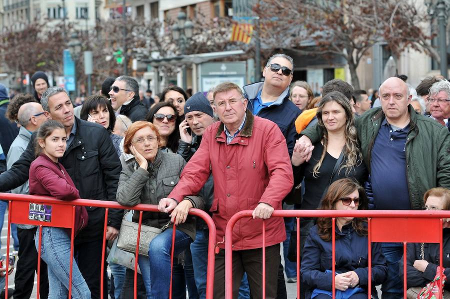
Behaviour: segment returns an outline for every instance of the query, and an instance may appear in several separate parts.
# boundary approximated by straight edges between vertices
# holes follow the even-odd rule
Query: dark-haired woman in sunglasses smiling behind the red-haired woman
[[[176,152],[179,144],[179,131],[177,128],[181,122],[175,106],[169,102],[158,102],[151,107],[147,121],[153,123],[160,136],[161,149],[166,152]]]

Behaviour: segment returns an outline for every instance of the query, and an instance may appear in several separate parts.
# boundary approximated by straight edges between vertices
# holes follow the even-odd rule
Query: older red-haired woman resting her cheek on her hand
[[[195,219],[187,213],[191,207],[203,208],[199,196],[187,196],[180,202],[165,198],[176,185],[185,165],[175,153],[159,149],[160,136],[156,126],[148,121],[136,121],[128,128],[123,141],[125,153],[120,156],[120,173],[117,201],[123,205],[138,203],[158,204],[160,212],[143,212],[142,224],[162,228],[166,223],[176,224],[175,256],[183,252],[195,238]],[[139,213],[134,213],[137,222]],[[170,284],[170,250],[172,224],[158,234],[149,244],[148,257],[139,255],[138,263],[148,298],[167,298]],[[175,276],[175,273],[173,273]],[[176,277],[173,277],[173,281]],[[173,291],[178,287],[173,283]],[[181,290],[182,291],[182,290]]]

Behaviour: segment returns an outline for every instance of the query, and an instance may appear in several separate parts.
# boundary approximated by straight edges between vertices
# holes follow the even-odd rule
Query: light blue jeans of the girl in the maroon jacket
[[[42,227],[40,253],[48,268],[48,299],[65,299],[68,296],[70,237],[67,231],[59,227]],[[36,249],[39,250],[39,228],[34,239]],[[72,298],[90,298],[90,290],[73,257]]]

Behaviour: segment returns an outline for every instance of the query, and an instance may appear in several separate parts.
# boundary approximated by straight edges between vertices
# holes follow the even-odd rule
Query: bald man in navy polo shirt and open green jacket
[[[426,190],[450,187],[450,134],[446,127],[414,111],[409,89],[397,77],[381,84],[379,99],[381,107],[355,119],[371,176],[369,208],[423,209]],[[321,138],[321,132],[312,127],[301,133],[294,150],[308,160],[312,143]],[[382,298],[402,298],[403,279],[398,275],[402,244],[383,243],[382,250],[388,263]]]

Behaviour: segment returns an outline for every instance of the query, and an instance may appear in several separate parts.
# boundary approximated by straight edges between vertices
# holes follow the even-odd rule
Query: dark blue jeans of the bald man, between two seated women
[[[402,243],[382,243],[381,249],[387,261],[387,278],[381,284],[382,298],[403,297],[403,277],[399,273],[399,262],[403,257]]]

